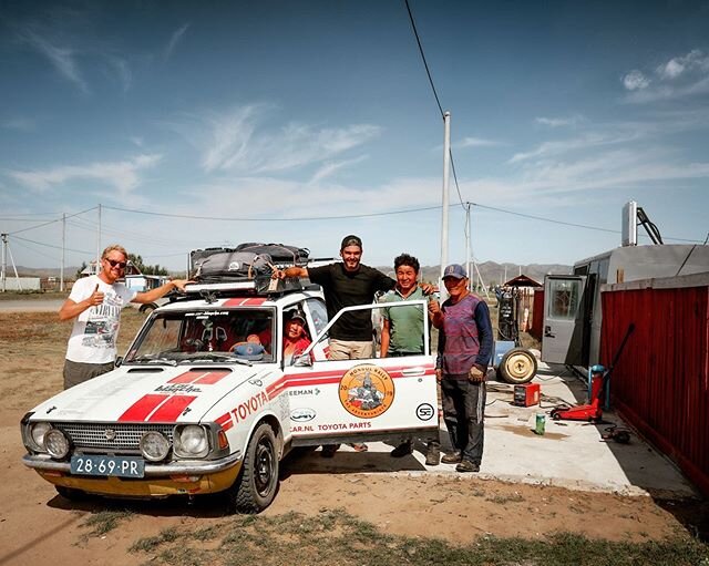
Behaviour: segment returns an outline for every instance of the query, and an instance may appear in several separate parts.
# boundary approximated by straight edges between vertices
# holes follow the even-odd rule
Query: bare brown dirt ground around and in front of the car
[[[142,320],[136,310],[124,311],[121,351]],[[217,497],[195,504],[182,500],[70,503],[22,465],[19,421],[35,403],[61,390],[70,328],[54,313],[0,312],[0,566],[127,565],[135,557],[126,550],[141,537],[171,526],[204,528],[229,521]],[[343,508],[390,534],[453,543],[470,543],[485,534],[543,538],[562,531],[590,538],[647,542],[697,536],[698,529],[706,528],[707,505],[701,502],[507,484],[470,475],[446,478],[434,472],[377,473],[367,465],[370,455],[358,456],[367,473],[315,474],[302,472],[302,466],[289,471],[286,462],[280,492],[265,514]],[[106,508],[127,508],[130,514],[119,528],[92,535],[85,525],[88,517]]]

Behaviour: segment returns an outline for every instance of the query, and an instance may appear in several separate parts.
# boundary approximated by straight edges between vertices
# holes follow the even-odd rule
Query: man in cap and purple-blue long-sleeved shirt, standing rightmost
[[[485,375],[492,358],[493,332],[487,305],[467,289],[467,274],[458,264],[443,271],[449,299],[429,302],[439,329],[436,378],[441,382],[443,420],[453,452],[441,462],[458,472],[479,472],[483,457]]]

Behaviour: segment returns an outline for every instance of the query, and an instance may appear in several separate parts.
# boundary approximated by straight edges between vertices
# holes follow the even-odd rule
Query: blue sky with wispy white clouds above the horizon
[[[572,265],[628,200],[705,243],[709,0],[409,8],[433,88],[403,0],[0,0],[8,264],[357,234],[366,264],[438,265],[441,110],[449,263]]]

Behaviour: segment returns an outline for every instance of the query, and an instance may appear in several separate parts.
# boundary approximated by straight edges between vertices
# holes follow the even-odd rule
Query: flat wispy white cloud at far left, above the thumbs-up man
[[[18,183],[38,193],[71,181],[95,181],[117,191],[125,197],[140,185],[140,172],[156,165],[160,155],[138,155],[122,162],[92,163],[89,165],[64,165],[45,171],[9,171],[7,174]]]

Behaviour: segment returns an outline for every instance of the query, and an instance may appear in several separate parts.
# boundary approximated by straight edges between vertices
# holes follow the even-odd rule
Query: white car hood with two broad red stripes
[[[41,403],[32,420],[199,422],[224,395],[268,372],[264,364],[123,366]]]

